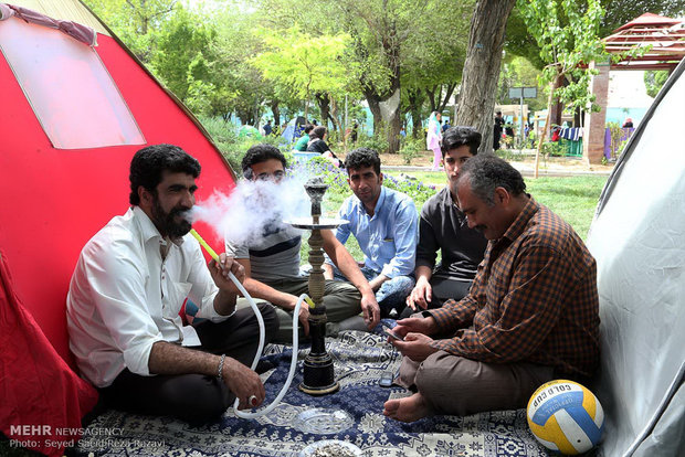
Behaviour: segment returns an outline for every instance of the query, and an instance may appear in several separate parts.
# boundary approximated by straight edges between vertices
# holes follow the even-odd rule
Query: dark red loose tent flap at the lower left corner
[[[81,436],[81,417],[95,406],[97,391],[57,355],[25,311],[2,252],[0,286],[1,431],[10,439],[35,443],[24,447],[61,456]]]

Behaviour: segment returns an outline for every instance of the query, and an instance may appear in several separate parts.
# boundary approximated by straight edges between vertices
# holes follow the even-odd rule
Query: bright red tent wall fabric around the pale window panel
[[[200,161],[198,199],[209,198],[215,189],[228,192],[234,173],[197,120],[115,38],[99,35],[98,43],[95,50],[147,145],[178,145]],[[0,205],[0,248],[24,307],[74,366],[65,316],[70,278],[88,238],[126,212],[130,159],[147,145],[57,150],[1,55],[0,81],[0,192],[12,195]],[[201,224],[198,230],[210,233]]]

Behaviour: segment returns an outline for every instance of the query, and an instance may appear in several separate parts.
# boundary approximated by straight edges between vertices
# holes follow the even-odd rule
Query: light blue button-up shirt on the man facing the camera
[[[336,237],[345,244],[355,235],[367,267],[390,279],[413,273],[419,231],[417,208],[408,195],[381,187],[373,216],[351,195],[342,202],[338,216],[349,224],[336,228]]]

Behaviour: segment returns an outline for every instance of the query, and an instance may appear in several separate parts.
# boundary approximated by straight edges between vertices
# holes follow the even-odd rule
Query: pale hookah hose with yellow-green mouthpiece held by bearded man
[[[194,236],[194,238],[200,243],[200,245],[204,247],[207,253],[217,263],[219,263],[219,256],[217,255],[214,249],[212,249],[211,246],[207,244],[204,240],[202,240],[200,234],[196,232],[194,228],[190,230],[190,234]],[[264,349],[264,319],[262,318],[262,313],[260,312],[260,309],[257,308],[256,304],[254,302],[250,294],[247,294],[247,290],[245,290],[243,285],[240,284],[238,278],[231,272],[229,272],[229,277],[235,285],[235,287],[238,287],[238,290],[240,290],[243,297],[247,299],[247,302],[250,304],[250,306],[252,307],[252,310],[254,311],[254,316],[257,318],[257,323],[260,325],[260,344],[257,347],[256,353],[254,354],[254,360],[252,361],[252,366],[251,366],[251,369],[254,370],[256,368],[257,362],[260,361],[262,350]],[[309,304],[309,306],[312,305],[312,299],[307,296],[307,294],[303,294],[297,299],[297,304],[295,305],[295,309],[293,310],[293,355],[291,359],[291,371],[288,372],[287,379],[285,380],[285,384],[281,389],[281,392],[278,392],[278,395],[276,395],[276,398],[274,398],[271,405],[266,406],[263,410],[256,411],[254,413],[247,413],[247,412],[240,411],[238,408],[240,398],[235,398],[235,403],[233,403],[233,411],[238,417],[255,418],[255,417],[260,417],[260,416],[263,416],[264,414],[272,412],[276,406],[278,406],[278,403],[281,403],[281,400],[285,395],[285,392],[291,386],[291,383],[293,382],[293,378],[295,376],[295,368],[297,366],[297,346],[298,346],[297,323],[298,323],[299,308],[302,307],[302,302],[305,300]]]

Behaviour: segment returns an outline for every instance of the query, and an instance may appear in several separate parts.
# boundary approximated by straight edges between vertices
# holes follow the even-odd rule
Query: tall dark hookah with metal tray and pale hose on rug
[[[312,219],[298,220],[291,222],[289,224],[297,228],[312,230],[312,236],[309,237],[309,263],[312,264],[312,272],[309,274],[309,298],[307,294],[302,294],[297,299],[295,309],[293,310],[293,355],[291,359],[291,368],[288,371],[285,384],[278,392],[278,395],[274,401],[263,410],[256,412],[243,412],[238,410],[240,403],[239,398],[235,398],[233,404],[233,411],[238,417],[242,418],[256,418],[272,412],[283,400],[287,389],[291,386],[293,378],[295,376],[295,369],[297,366],[297,349],[298,349],[298,316],[303,301],[306,301],[309,306],[309,333],[312,336],[312,350],[306,355],[304,362],[304,380],[299,384],[299,390],[310,395],[325,395],[337,392],[340,389],[340,384],[335,381],[335,373],[333,369],[333,359],[330,354],[326,352],[325,348],[325,334],[326,334],[326,307],[323,305],[325,278],[322,265],[324,264],[323,243],[320,231],[322,228],[335,228],[347,221],[338,220],[322,220],[320,202],[326,192],[328,185],[324,184],[320,178],[313,178],[305,184],[305,190],[312,200]],[[212,247],[200,236],[194,230],[190,230],[190,234],[200,243],[200,245],[207,251],[207,253],[219,263],[219,255],[212,249]],[[238,278],[229,272],[229,278],[233,281],[238,290],[247,299],[247,302],[252,307],[254,315],[257,319],[260,327],[260,341],[257,351],[254,355],[251,369],[254,370],[260,361],[262,350],[264,349],[264,319],[260,312],[253,298],[247,290],[238,280]]]

